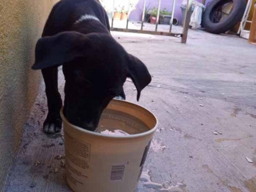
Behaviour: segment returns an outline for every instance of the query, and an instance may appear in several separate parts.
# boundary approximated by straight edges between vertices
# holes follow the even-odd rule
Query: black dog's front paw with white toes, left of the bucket
[[[54,134],[61,131],[62,120],[60,114],[48,113],[44,121],[44,132],[46,134]]]

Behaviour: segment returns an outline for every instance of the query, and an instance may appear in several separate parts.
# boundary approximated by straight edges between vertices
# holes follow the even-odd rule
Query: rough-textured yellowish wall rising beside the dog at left
[[[0,0],[0,191],[36,97],[34,49],[57,0]]]

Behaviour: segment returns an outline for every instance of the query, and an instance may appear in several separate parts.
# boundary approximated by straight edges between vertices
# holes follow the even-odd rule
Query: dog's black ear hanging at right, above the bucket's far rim
[[[128,77],[130,77],[137,89],[137,100],[140,99],[140,92],[151,82],[151,75],[146,65],[137,57],[128,54]]]

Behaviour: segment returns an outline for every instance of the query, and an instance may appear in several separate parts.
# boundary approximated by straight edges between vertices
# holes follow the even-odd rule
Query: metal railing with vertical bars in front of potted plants
[[[143,30],[144,19],[145,19],[146,3],[147,3],[147,0],[144,0],[140,30],[138,30],[138,29],[129,29],[128,28],[129,16],[130,16],[130,12],[129,12],[130,0],[128,1],[128,13],[127,13],[128,15],[127,15],[127,21],[126,21],[126,28],[114,28],[113,25],[114,25],[115,0],[113,0],[111,31],[143,33],[143,34],[163,35],[163,36],[180,36],[181,37],[181,43],[186,43],[187,42],[188,27],[189,27],[189,20],[190,20],[190,18],[189,18],[190,14],[188,14],[188,13],[191,11],[193,0],[187,0],[187,7],[186,7],[186,12],[185,12],[185,18],[184,18],[184,21],[183,21],[182,33],[172,33],[173,16],[174,16],[174,11],[175,11],[176,0],[173,0],[173,4],[172,4],[172,18],[170,20],[170,30],[169,30],[169,32],[157,31],[158,24],[159,24],[161,0],[158,0],[158,9],[157,9],[157,16],[156,16],[156,28],[155,28],[155,31]]]

